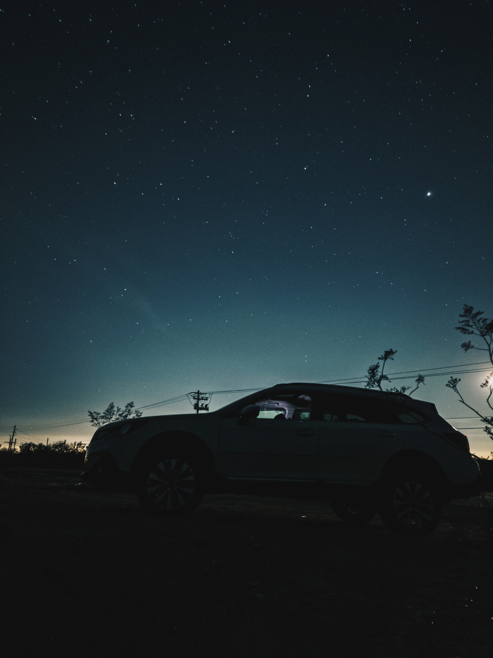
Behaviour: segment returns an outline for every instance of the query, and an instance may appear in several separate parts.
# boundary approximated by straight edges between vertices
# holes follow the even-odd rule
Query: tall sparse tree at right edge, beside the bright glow
[[[485,347],[473,345],[470,339],[467,342],[463,342],[461,347],[465,352],[468,352],[470,349],[479,349],[482,352],[488,352],[488,358],[493,367],[493,319],[489,320],[488,318],[482,317],[483,315],[484,311],[475,311],[473,306],[464,304],[463,312],[459,314],[459,318],[461,318],[459,320],[459,326],[455,327],[455,329],[461,332],[461,334],[465,334],[465,336],[477,336],[480,338]],[[486,432],[490,439],[493,440],[493,416],[486,416],[479,413],[477,409],[474,409],[474,407],[467,404],[457,388],[459,382],[460,378],[451,377],[446,383],[446,386],[452,388],[454,393],[459,395],[459,399],[463,405],[479,416],[481,422],[484,422],[484,432]],[[486,396],[486,404],[490,407],[491,411],[493,411],[493,406],[491,404],[491,397],[493,395],[493,372],[490,372],[490,374],[486,376],[484,382],[480,384],[480,388],[488,389],[489,393]]]

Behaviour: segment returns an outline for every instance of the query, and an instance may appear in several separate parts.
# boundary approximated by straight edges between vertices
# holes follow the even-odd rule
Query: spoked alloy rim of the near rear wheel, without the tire
[[[398,521],[406,528],[425,528],[434,516],[434,501],[425,484],[408,480],[394,491],[392,507]]]

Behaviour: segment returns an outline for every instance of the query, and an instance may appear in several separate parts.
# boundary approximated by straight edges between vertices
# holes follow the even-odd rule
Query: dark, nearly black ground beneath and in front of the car
[[[79,481],[0,472],[6,658],[492,655],[492,494],[409,541],[323,500],[209,495],[170,521]]]

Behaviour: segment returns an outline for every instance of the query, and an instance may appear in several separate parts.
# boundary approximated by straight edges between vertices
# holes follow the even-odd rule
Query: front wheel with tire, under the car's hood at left
[[[199,462],[179,449],[158,453],[142,468],[137,495],[152,514],[175,518],[190,514],[203,497]]]

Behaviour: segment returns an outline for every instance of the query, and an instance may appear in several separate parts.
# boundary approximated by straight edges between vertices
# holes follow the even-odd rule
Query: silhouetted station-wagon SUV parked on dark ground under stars
[[[340,519],[378,512],[421,536],[441,504],[478,495],[467,437],[434,404],[348,386],[278,384],[207,415],[115,422],[95,432],[85,473],[130,480],[153,513],[190,513],[205,492],[290,492],[330,499]]]

